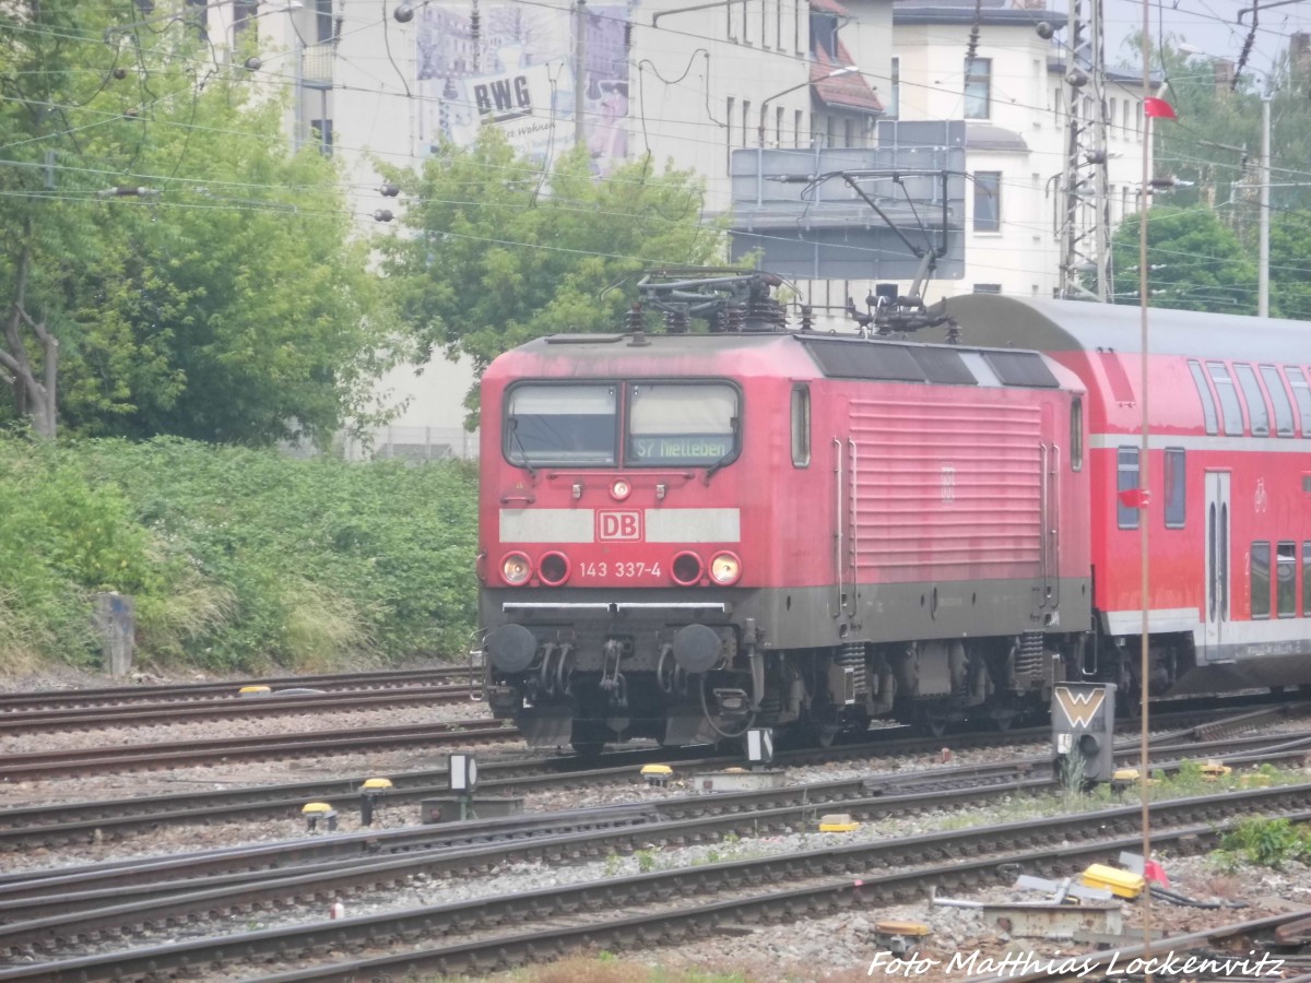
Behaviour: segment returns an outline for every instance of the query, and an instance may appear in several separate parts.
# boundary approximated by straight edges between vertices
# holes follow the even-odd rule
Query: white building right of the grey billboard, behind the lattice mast
[[[1070,145],[1070,58],[1063,14],[998,4],[982,8],[969,58],[974,3],[898,3],[893,66],[901,119],[965,119],[971,187],[966,195],[965,277],[929,296],[973,291],[1051,296],[1061,286]],[[1036,25],[1057,29],[1053,39]],[[1143,169],[1141,80],[1105,76],[1106,214],[1112,227],[1138,210]],[[1080,89],[1092,98],[1091,87]],[[1086,106],[1083,117],[1092,118]],[[1148,148],[1150,149],[1150,148]]]

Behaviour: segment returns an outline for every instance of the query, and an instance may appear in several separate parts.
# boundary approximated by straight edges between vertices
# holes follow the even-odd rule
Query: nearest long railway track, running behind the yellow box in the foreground
[[[1311,785],[1226,792],[1151,806],[1154,843],[1210,844],[1230,822],[1253,813],[1311,818]],[[891,904],[928,889],[964,891],[1000,872],[1065,876],[1141,843],[1139,806],[974,827],[800,853],[678,868],[635,877],[334,921],[198,938],[128,952],[29,962],[0,979],[128,979],[186,969],[250,967],[265,979],[347,979],[359,974],[473,973],[590,945],[659,944],[686,932],[829,914],[853,904]],[[944,862],[944,858],[947,862]],[[413,861],[413,858],[410,858]],[[395,862],[395,861],[393,861]],[[878,870],[876,879],[869,870]],[[176,916],[211,899],[172,898]],[[614,917],[623,910],[623,917]],[[509,928],[507,928],[509,927]],[[8,927],[14,931],[14,927]],[[55,932],[52,925],[43,927]],[[401,948],[396,955],[341,962],[342,953]],[[418,946],[418,948],[416,948]],[[330,952],[334,963],[304,966]],[[30,957],[29,957],[30,958]],[[291,966],[288,966],[291,963]],[[271,971],[288,967],[275,976]]]

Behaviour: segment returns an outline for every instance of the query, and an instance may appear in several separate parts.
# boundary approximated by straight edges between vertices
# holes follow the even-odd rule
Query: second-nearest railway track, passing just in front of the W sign
[[[1247,741],[1238,748],[1217,743],[1206,750],[1248,750],[1278,760],[1294,751],[1304,755],[1311,738],[1294,743],[1299,747],[1260,752],[1252,752]],[[1156,761],[1171,771],[1177,760],[1163,760],[1165,754],[1159,752]],[[1053,790],[1057,782],[1050,768],[1044,769],[1047,764],[1021,759],[12,876],[0,881],[0,923],[12,923],[0,924],[0,950],[58,949],[64,940],[110,929],[307,898],[345,899],[417,876],[472,876],[511,861],[576,864],[642,845],[794,832],[813,827],[819,813],[835,807],[861,820],[958,809],[1002,796]],[[134,900],[114,904],[125,895]]]

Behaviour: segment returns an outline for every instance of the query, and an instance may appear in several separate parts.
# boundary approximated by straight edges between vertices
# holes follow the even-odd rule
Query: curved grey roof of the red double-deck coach
[[[1038,351],[1142,351],[1142,309],[1086,300],[1042,300],[998,294],[950,298],[947,309],[971,345]],[[1306,362],[1311,322],[1151,308],[1148,349],[1158,355]]]

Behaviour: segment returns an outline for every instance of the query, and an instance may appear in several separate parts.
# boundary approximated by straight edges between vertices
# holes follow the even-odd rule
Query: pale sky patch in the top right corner
[[[1061,0],[1047,0],[1050,7],[1062,9]],[[1287,38],[1297,31],[1311,33],[1311,0],[1294,0],[1280,5],[1280,0],[1255,0],[1261,8],[1257,14],[1256,38],[1247,66],[1264,72],[1287,48]],[[1238,63],[1252,25],[1253,0],[1147,0],[1150,35],[1152,43],[1164,37],[1185,42],[1200,54],[1227,58]],[[1139,63],[1135,47],[1126,39],[1142,30],[1143,4],[1138,0],[1105,0],[1106,64]],[[1239,12],[1245,10],[1242,22]]]

